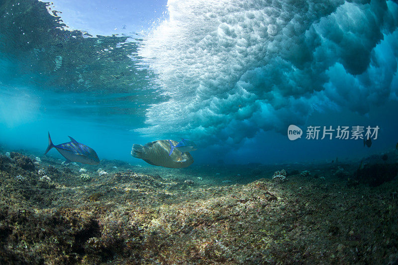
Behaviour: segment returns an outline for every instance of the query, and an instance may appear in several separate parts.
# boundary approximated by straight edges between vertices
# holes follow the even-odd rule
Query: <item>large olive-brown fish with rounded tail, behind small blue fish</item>
[[[144,146],[134,144],[131,155],[154,166],[174,169],[189,167],[194,163],[190,153],[170,152],[171,146],[175,147],[177,144],[178,142],[173,140],[158,140]]]

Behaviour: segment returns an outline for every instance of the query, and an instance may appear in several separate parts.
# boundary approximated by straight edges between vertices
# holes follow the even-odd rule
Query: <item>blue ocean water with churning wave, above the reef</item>
[[[54,144],[70,135],[100,159],[141,165],[132,144],[160,139],[195,141],[199,165],[395,149],[396,1],[164,6],[167,15],[145,32],[96,36],[68,30],[49,3],[1,1],[0,144],[44,153],[49,131]],[[289,140],[292,124],[301,138]],[[318,139],[306,139],[310,126],[319,126]],[[321,139],[324,126],[331,140]],[[337,137],[339,126],[349,139]],[[366,127],[379,128],[370,148],[351,139],[355,126],[365,139]]]

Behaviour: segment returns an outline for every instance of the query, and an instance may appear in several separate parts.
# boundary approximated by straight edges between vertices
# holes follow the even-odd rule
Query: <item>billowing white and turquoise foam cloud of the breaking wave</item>
[[[169,0],[139,55],[171,99],[139,131],[238,143],[314,108],[369,111],[397,72],[398,5],[361,2]]]

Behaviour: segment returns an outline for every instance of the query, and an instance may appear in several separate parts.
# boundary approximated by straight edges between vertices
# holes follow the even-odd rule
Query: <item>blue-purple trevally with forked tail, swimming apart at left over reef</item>
[[[48,147],[44,155],[54,147],[64,158],[66,158],[65,163],[80,162],[89,165],[100,164],[100,159],[98,158],[96,151],[87,145],[78,143],[78,141],[72,137],[68,137],[71,139],[70,142],[54,145],[51,141],[50,133],[48,133]]]

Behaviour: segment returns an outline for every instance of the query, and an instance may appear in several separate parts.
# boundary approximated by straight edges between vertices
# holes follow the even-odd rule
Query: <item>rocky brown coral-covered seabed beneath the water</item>
[[[325,179],[295,174],[289,181],[274,181],[250,178],[246,166],[170,170],[111,161],[101,162],[101,171],[109,174],[94,174],[83,183],[79,165],[64,167],[57,159],[43,158],[38,170],[50,179],[20,165],[0,156],[0,264],[397,260],[397,178],[376,187],[363,185],[336,178],[330,163],[297,169],[283,165],[289,172],[307,168]],[[342,166],[347,172],[358,168],[355,163]],[[271,176],[280,167],[262,166],[261,171]],[[98,168],[87,169],[94,173]],[[216,181],[214,172],[220,172]],[[202,180],[187,185],[199,173]],[[231,176],[236,176],[234,184],[221,184]]]

